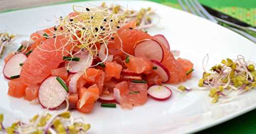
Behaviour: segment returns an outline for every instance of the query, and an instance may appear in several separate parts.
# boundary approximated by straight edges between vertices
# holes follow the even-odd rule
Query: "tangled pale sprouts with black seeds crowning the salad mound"
[[[108,42],[111,42],[114,38],[118,38],[122,46],[122,41],[117,35],[117,30],[134,19],[137,20],[137,29],[143,30],[149,28],[154,25],[150,17],[152,14],[154,14],[154,11],[151,8],[142,8],[140,11],[134,11],[124,9],[120,5],[107,7],[105,3],[102,3],[101,6],[91,8],[73,6],[72,13],[66,17],[60,17],[54,29],[49,29],[52,34],[43,36],[46,38],[57,36],[66,37],[68,42],[65,45],[50,51],[67,52],[72,58],[75,55],[74,49],[76,49],[76,53],[81,50],[89,51],[90,57],[92,59],[96,58],[99,53],[99,44],[104,44],[106,47],[106,57],[100,62],[103,63],[109,55]],[[72,44],[71,50],[66,50],[65,46],[70,44]],[[38,48],[41,49],[39,46]],[[77,48],[80,50],[77,51]]]

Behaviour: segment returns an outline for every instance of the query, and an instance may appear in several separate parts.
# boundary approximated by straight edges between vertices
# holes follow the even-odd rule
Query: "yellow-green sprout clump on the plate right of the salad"
[[[222,60],[220,64],[211,67],[210,72],[203,73],[198,86],[209,90],[212,103],[229,102],[237,95],[256,87],[255,63],[246,62],[241,55],[236,60]],[[236,92],[229,95],[231,91]],[[222,101],[219,101],[220,97],[223,98]]]

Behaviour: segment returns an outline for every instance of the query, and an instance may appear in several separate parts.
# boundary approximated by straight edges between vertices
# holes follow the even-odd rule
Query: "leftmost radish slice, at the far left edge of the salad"
[[[22,66],[19,64],[24,63],[26,60],[27,57],[23,53],[17,53],[12,58],[10,58],[3,69],[5,77],[10,79],[11,76],[19,75],[20,71],[22,70]]]

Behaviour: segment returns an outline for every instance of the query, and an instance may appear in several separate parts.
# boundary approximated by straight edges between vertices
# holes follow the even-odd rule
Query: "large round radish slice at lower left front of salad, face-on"
[[[57,109],[65,102],[68,95],[66,89],[61,86],[56,78],[56,76],[48,77],[42,82],[38,90],[38,100],[40,104],[50,110]],[[65,81],[63,81],[63,83],[65,83]]]

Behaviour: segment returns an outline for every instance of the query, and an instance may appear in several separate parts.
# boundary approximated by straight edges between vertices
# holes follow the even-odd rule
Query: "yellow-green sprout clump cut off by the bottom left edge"
[[[61,112],[50,114],[45,110],[40,115],[35,115],[28,123],[17,121],[9,127],[4,127],[4,115],[0,114],[0,131],[4,133],[86,133],[91,125],[84,123],[83,118],[75,119],[73,113],[67,108]]]

